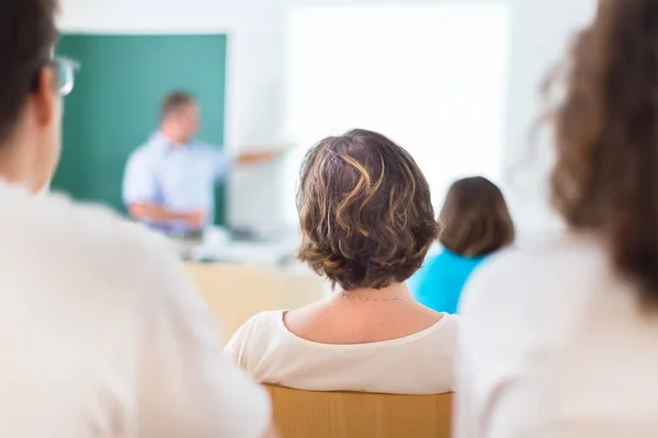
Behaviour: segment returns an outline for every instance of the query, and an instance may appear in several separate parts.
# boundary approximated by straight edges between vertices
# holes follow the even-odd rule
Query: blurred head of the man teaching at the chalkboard
[[[201,127],[201,112],[196,97],[174,91],[164,96],[160,108],[162,131],[179,143],[189,142]]]

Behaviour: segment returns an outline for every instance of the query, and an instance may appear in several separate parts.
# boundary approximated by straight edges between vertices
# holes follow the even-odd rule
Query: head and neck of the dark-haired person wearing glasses
[[[56,0],[0,1],[0,176],[37,192],[60,150]]]

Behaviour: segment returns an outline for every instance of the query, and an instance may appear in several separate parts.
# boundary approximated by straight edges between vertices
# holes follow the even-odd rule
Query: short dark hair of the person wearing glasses
[[[0,145],[12,134],[57,41],[57,0],[0,1]]]

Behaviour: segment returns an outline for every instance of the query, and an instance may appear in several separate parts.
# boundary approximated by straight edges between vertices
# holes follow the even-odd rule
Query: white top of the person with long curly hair
[[[510,250],[462,313],[457,438],[658,437],[658,315],[594,239]]]

